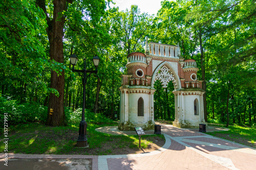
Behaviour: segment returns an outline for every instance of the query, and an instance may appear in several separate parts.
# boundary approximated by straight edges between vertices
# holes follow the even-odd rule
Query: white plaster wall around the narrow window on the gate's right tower
[[[195,115],[194,111],[194,101],[198,99],[198,112],[199,115]],[[185,122],[191,124],[201,123],[201,111],[200,111],[200,95],[184,95],[184,118]],[[198,124],[197,124],[198,125]]]

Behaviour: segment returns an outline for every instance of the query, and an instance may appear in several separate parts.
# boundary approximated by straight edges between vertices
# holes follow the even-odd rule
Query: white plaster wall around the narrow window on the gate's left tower
[[[132,124],[145,124],[150,120],[150,95],[143,93],[129,94],[129,122]],[[138,116],[138,100],[142,97],[144,101],[144,116]]]

